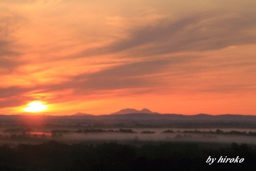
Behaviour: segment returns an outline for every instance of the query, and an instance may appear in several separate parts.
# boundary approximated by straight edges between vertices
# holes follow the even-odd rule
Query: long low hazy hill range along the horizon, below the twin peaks
[[[122,110],[121,110],[122,111]],[[145,111],[145,110],[141,110]],[[138,110],[136,110],[138,112]],[[19,123],[20,121],[40,121],[44,123],[132,123],[138,121],[141,123],[170,123],[170,122],[246,122],[256,123],[256,116],[254,115],[181,115],[181,114],[158,114],[158,113],[130,113],[130,114],[112,114],[112,115],[90,115],[86,113],[76,113],[69,116],[29,116],[29,115],[0,115],[0,124]],[[233,125],[236,127],[236,124]]]

